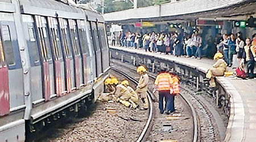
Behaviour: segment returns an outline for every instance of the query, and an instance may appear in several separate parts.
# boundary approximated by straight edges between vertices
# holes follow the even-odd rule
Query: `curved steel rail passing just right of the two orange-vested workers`
[[[118,64],[118,62],[114,62],[115,64]],[[118,65],[121,65],[121,64],[118,64]],[[121,65],[121,66],[124,66],[124,65]],[[124,66],[125,68],[128,68],[127,66]],[[135,70],[133,68],[129,68],[130,70]],[[127,74],[126,74],[127,75]],[[128,76],[128,75],[127,75]],[[148,76],[153,78],[155,80],[155,76],[153,76],[151,73],[148,73]],[[132,78],[129,76],[129,78]],[[183,88],[183,87],[181,87]],[[188,104],[188,106],[190,107],[191,109],[191,112],[192,112],[192,118],[193,118],[193,142],[196,142],[198,140],[198,122],[197,122],[197,115],[196,115],[196,111],[195,111],[195,108],[193,107],[192,103],[189,102],[189,99],[187,97],[185,97],[184,94],[181,94],[180,93],[180,96],[184,99],[184,101]]]

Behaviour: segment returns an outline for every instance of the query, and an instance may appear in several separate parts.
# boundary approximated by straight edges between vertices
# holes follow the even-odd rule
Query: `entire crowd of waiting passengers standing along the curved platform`
[[[217,34],[215,39],[209,36],[203,39],[200,33],[195,30],[192,34],[177,32],[148,32],[146,34],[133,32],[120,32],[119,45],[127,48],[140,48],[146,52],[158,52],[162,54],[185,56],[187,58],[201,59],[202,56],[213,59],[216,52],[224,55],[224,61],[229,67],[237,68],[246,63],[247,76],[254,77],[254,67],[256,61],[256,34],[252,39],[243,39],[242,33],[237,34]],[[204,53],[204,54],[203,54]],[[233,62],[237,62],[233,65]]]

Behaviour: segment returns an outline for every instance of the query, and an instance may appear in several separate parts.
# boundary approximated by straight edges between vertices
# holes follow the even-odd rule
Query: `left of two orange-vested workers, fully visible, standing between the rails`
[[[161,72],[158,74],[155,80],[156,89],[159,93],[159,110],[160,114],[163,114],[166,110],[166,114],[171,113],[171,94],[170,90],[172,87],[172,77],[169,73],[166,72],[166,69],[161,69]],[[165,108],[163,108],[163,99],[166,102]]]

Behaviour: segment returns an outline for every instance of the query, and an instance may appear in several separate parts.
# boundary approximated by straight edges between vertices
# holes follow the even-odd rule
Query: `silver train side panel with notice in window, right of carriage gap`
[[[31,62],[31,94],[32,102],[42,102],[43,101],[43,86],[42,86],[42,68],[41,61],[38,51],[38,42],[36,40],[36,28],[34,19],[31,15],[22,15],[23,26],[24,26],[24,36],[28,45],[28,52],[30,55]]]

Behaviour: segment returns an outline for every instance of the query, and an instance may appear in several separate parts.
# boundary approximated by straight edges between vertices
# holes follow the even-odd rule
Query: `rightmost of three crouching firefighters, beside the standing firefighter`
[[[139,98],[138,98],[138,95],[137,93],[133,90],[132,87],[129,86],[129,81],[127,80],[124,80],[122,81],[121,83],[123,86],[125,86],[128,90],[129,90],[129,93],[130,93],[130,99],[129,99],[129,102],[131,103],[131,105],[133,105],[133,108],[137,108],[138,107],[138,102],[139,102]]]

